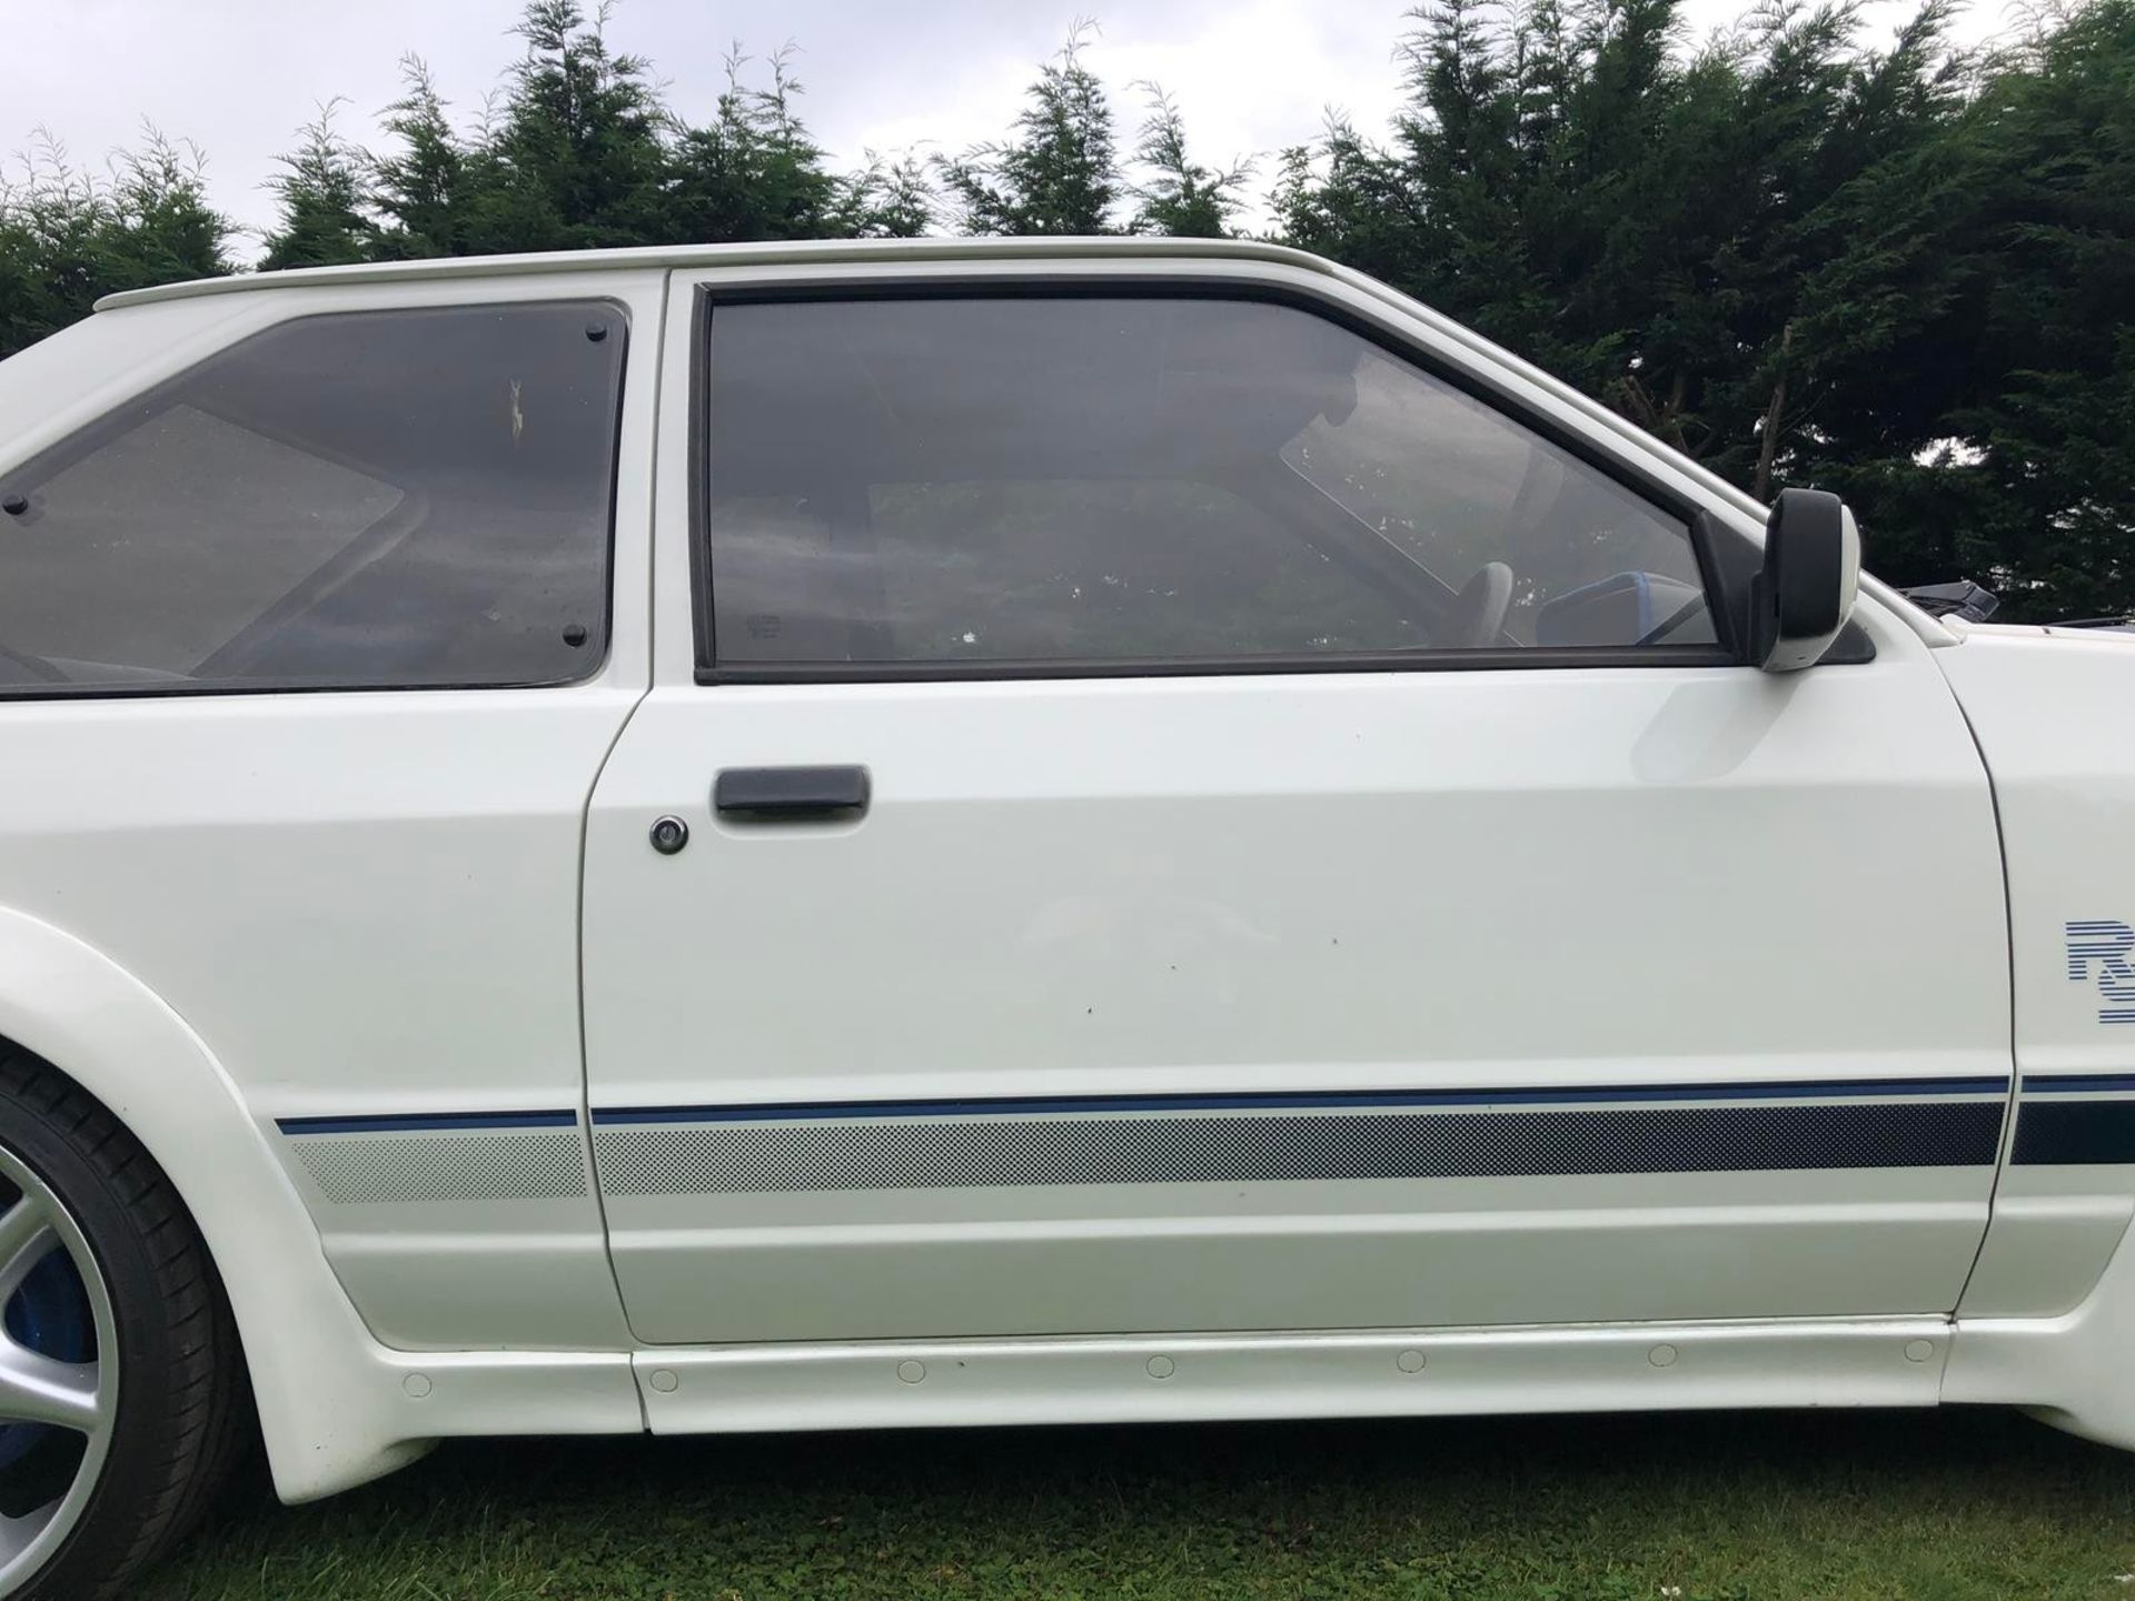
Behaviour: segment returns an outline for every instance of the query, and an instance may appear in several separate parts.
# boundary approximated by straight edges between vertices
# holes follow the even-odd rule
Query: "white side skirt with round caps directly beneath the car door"
[[[655,1434],[1932,1407],[1947,1317],[651,1349]]]

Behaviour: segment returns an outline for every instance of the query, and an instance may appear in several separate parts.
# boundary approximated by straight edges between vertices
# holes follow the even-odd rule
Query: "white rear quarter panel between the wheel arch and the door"
[[[431,284],[401,303],[621,301],[645,342],[626,371],[628,453],[651,444],[662,290],[658,273],[596,273],[502,295]],[[77,352],[64,335],[28,352],[73,356],[77,382],[98,374],[90,401],[26,423],[11,448],[64,438],[231,339],[369,305],[307,290],[92,318],[81,331],[102,348]],[[132,318],[149,327],[113,344]],[[107,363],[124,378],[100,378]],[[626,589],[645,585],[647,517],[636,474],[617,500]],[[617,606],[600,675],[557,689],[0,702],[0,747],[36,775],[0,800],[0,905],[83,939],[211,1042],[393,1345],[506,1343],[500,1313],[504,1328],[538,1328],[542,1347],[626,1338],[583,1153],[572,1198],[335,1206],[273,1131],[282,1119],[576,1108],[581,818],[647,660],[645,611]],[[468,1035],[474,1014],[487,1023]]]

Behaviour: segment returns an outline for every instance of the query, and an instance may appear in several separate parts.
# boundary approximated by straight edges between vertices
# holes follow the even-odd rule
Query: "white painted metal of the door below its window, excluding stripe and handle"
[[[1800,783],[1838,749],[1857,764]],[[681,858],[645,850],[719,766],[833,758],[873,773],[850,833],[707,826]],[[1738,828],[1759,852],[1729,850]],[[1983,1078],[1998,1101],[1998,886],[1954,886],[1907,946],[1800,892],[1821,862],[1849,894],[1902,894],[1936,854],[1992,860],[1992,811],[1926,653],[1793,683],[660,687],[587,839],[596,1146],[645,1138],[628,1108],[677,1106],[1911,1078]],[[1712,860],[1725,879],[1689,865]],[[1717,944],[1717,897],[1766,916]],[[1559,905],[1608,916],[1565,926]],[[632,1326],[670,1343],[1947,1311],[1990,1185],[1992,1161],[611,1187],[606,1208]]]

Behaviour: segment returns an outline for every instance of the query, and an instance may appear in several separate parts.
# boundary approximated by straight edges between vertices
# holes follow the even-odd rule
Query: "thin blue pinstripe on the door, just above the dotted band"
[[[1595,1106],[1635,1101],[1787,1101],[1868,1095],[2007,1095],[2005,1076],[1828,1078],[1761,1084],[1563,1084],[1471,1091],[1275,1091],[1264,1095],[1001,1095],[916,1101],[762,1101],[752,1106],[604,1106],[598,1127],[634,1123],[784,1123],[871,1116],[991,1116],[1046,1112],[1292,1112],[1430,1106]]]

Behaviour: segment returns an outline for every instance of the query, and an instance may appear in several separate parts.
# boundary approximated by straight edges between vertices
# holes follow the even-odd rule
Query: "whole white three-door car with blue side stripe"
[[[2135,1443],[2126,638],[1258,243],[120,295],[0,365],[0,1592],[440,1437]]]

